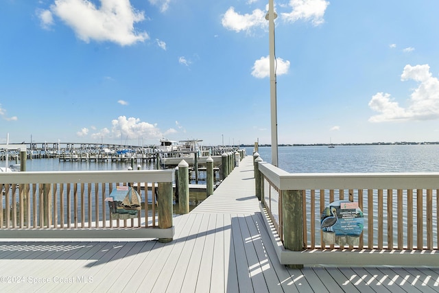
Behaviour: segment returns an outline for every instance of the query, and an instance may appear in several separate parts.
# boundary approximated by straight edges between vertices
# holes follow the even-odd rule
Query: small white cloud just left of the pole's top
[[[222,17],[222,26],[235,32],[250,32],[253,27],[268,27],[265,20],[265,12],[256,9],[252,14],[239,14],[235,8],[230,7]]]

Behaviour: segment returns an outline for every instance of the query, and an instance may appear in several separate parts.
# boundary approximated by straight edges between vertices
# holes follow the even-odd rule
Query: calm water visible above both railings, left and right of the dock
[[[252,154],[252,148],[246,148]],[[259,148],[264,161],[271,163],[271,148]],[[439,145],[346,145],[279,147],[279,167],[292,173],[330,172],[439,172]],[[5,162],[0,161],[0,165]],[[10,162],[15,163],[15,161]],[[141,169],[154,169],[152,163],[134,163]],[[128,169],[126,162],[27,160],[26,171],[93,171]]]

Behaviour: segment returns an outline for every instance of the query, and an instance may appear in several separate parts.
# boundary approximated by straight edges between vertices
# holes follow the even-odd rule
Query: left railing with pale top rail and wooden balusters
[[[0,235],[151,237],[166,242],[174,235],[173,181],[171,169],[4,172],[0,174]],[[115,189],[122,196],[137,191],[141,207],[109,204]]]

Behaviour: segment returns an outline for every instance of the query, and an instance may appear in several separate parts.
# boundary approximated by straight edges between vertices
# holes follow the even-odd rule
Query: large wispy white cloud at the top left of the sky
[[[145,16],[134,10],[129,0],[100,2],[96,8],[90,0],[56,0],[50,10],[86,43],[97,40],[125,46],[149,38],[146,32],[134,30],[134,23],[143,21]]]

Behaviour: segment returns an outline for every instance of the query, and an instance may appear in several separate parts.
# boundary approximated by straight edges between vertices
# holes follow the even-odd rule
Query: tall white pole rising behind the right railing
[[[274,60],[274,0],[268,1],[268,41],[270,43],[270,111],[272,126],[272,165],[278,167],[276,68]],[[267,16],[265,16],[267,19]]]

